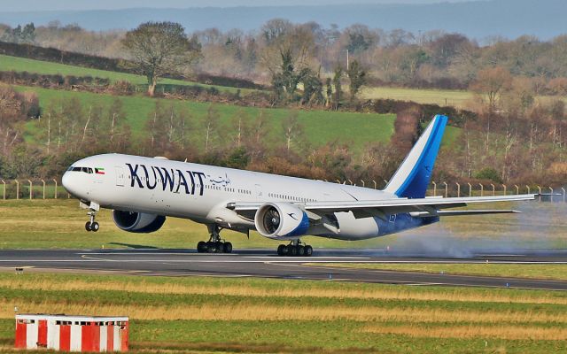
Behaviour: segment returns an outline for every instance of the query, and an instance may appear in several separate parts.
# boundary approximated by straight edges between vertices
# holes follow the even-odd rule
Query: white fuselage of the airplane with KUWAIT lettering
[[[105,154],[83,158],[73,166],[75,170],[81,167],[82,171],[67,171],[63,184],[69,193],[83,201],[108,209],[191,219],[229,228],[255,228],[252,219],[227,208],[227,204],[234,202],[284,202],[300,206],[308,202],[397,198],[382,190],[164,158]],[[355,219],[352,212],[334,215],[340,224],[338,233],[316,235],[343,240],[384,235],[378,227],[383,220]]]

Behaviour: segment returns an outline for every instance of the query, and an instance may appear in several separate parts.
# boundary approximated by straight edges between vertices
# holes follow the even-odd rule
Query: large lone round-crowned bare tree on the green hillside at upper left
[[[150,96],[154,95],[160,77],[166,73],[182,73],[200,52],[197,40],[189,39],[185,28],[174,22],[143,23],[128,31],[122,45],[132,57],[132,69],[147,77]]]

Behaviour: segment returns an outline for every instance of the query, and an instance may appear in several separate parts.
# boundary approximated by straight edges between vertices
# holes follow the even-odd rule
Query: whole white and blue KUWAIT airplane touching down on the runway
[[[213,165],[103,154],[71,165],[62,178],[66,190],[88,209],[87,231],[96,232],[97,212],[112,209],[113,221],[130,233],[151,233],[167,217],[205,224],[201,253],[230,253],[221,230],[249,235],[256,230],[284,242],[280,256],[311,256],[307,235],[363,240],[431,225],[441,217],[513,213],[514,210],[458,210],[472,203],[524,201],[515,196],[426,197],[447,116],[436,115],[382,190],[313,181]],[[285,242],[289,242],[285,244]]]

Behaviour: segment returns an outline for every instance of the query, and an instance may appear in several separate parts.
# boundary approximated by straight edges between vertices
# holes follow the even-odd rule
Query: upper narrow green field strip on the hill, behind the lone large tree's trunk
[[[110,81],[129,81],[133,85],[147,85],[147,79],[142,75],[136,75],[132,73],[117,73],[107,70],[91,69],[88,67],[74,66],[53,63],[49,61],[28,59],[28,58],[18,58],[10,57],[5,55],[0,55],[0,70],[1,71],[14,71],[14,72],[28,72],[28,73],[43,73],[43,74],[60,74],[60,75],[74,75],[74,76],[92,76],[104,79],[110,79]],[[159,81],[159,84],[164,85],[198,85],[202,87],[214,87],[216,89],[225,90],[229,92],[236,92],[236,88],[229,88],[223,86],[206,85],[198,82],[191,81],[181,81],[173,79],[163,79]],[[241,92],[245,93],[250,91],[250,89],[241,89]]]

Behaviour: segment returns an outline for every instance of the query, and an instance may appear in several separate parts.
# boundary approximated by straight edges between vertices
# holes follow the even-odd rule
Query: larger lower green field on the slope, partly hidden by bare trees
[[[89,92],[74,92],[65,90],[29,88],[19,86],[19,90],[31,90],[37,93],[40,104],[43,108],[56,99],[66,99],[71,97],[78,98],[86,107],[89,104],[101,104],[109,106],[116,99],[116,96],[100,95]],[[150,112],[155,108],[156,98],[146,96],[120,96],[124,105],[128,124],[132,127],[135,136],[142,134],[144,123]],[[199,124],[204,119],[206,111],[211,104],[160,99],[164,106],[175,104],[177,107],[186,107],[193,115],[192,122],[198,132]],[[221,124],[230,130],[230,121],[243,114],[246,119],[256,119],[262,110],[255,107],[240,107],[230,104],[215,104],[220,117]],[[290,115],[288,109],[268,109],[264,110],[268,115],[268,124],[273,127],[269,137],[272,140],[283,139],[282,122]],[[353,152],[360,153],[364,146],[369,142],[387,142],[393,133],[393,114],[374,114],[374,113],[351,113],[351,112],[326,112],[326,111],[297,111],[299,123],[303,126],[307,142],[315,147],[326,142],[338,141],[348,144]],[[34,121],[27,124],[27,141],[33,141],[34,134],[37,132],[37,123]],[[456,129],[456,128],[454,128]],[[202,142],[202,135],[195,136],[196,142]]]

